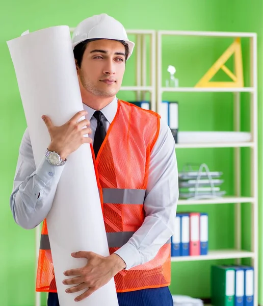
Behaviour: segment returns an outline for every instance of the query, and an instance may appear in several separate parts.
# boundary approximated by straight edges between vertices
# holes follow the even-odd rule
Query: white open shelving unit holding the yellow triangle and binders
[[[250,40],[250,86],[243,88],[166,88],[162,85],[162,37],[170,36],[210,36],[210,37],[246,37]],[[258,195],[257,195],[257,36],[255,33],[231,32],[193,32],[193,31],[157,31],[157,112],[161,112],[164,92],[233,92],[234,129],[240,131],[240,93],[250,93],[250,133],[251,142],[238,143],[188,143],[177,144],[177,149],[187,148],[234,148],[235,196],[210,200],[179,200],[178,205],[235,205],[235,249],[211,250],[207,256],[174,257],[172,262],[234,259],[239,262],[242,258],[250,258],[254,267],[254,306],[258,304]],[[241,147],[251,149],[251,197],[241,196]],[[251,207],[251,242],[250,251],[241,249],[241,203]]]

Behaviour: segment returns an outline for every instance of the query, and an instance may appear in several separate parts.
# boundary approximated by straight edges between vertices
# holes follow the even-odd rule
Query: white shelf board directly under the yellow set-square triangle
[[[162,87],[162,92],[254,92],[253,87]]]

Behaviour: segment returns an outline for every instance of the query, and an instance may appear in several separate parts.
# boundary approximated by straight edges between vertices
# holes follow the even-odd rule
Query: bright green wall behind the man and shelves
[[[34,231],[25,231],[15,224],[9,209],[9,196],[12,190],[18,146],[25,129],[25,119],[15,79],[15,73],[8,52],[6,41],[19,36],[23,31],[35,31],[52,25],[68,24],[74,27],[87,16],[108,13],[120,20],[126,29],[153,30],[200,30],[200,31],[244,31],[258,34],[259,61],[259,186],[262,183],[262,5],[260,0],[169,0],[165,3],[157,0],[115,3],[102,0],[99,4],[87,1],[14,1],[1,4],[0,10],[0,263],[4,277],[1,277],[1,305],[30,306],[34,304]],[[103,7],[103,11],[100,8]],[[163,73],[168,64],[177,68],[180,86],[193,86],[203,73],[215,62],[230,44],[223,39],[220,43],[214,39],[185,38],[164,39]],[[247,43],[244,43],[244,66],[247,65]],[[127,75],[124,84],[132,79],[134,60],[127,62]],[[164,78],[165,80],[165,78]],[[164,82],[163,80],[163,82]],[[126,84],[125,84],[126,85]],[[133,99],[131,93],[121,92],[120,98]],[[216,130],[232,129],[232,95],[231,93],[188,93],[166,94],[165,99],[178,100],[180,105],[180,130]],[[248,95],[242,95],[242,129],[248,129],[246,101]],[[197,115],[198,114],[198,115]],[[224,172],[224,187],[228,194],[233,194],[233,149],[183,149],[177,150],[178,167],[186,162],[206,162],[211,169]],[[246,164],[247,152],[242,152],[243,164]],[[246,174],[243,172],[243,176]],[[244,194],[248,194],[247,182],[243,180]],[[259,188],[260,208],[262,193]],[[178,211],[186,208],[178,207]],[[188,207],[194,211],[196,207]],[[244,207],[246,212],[246,207]],[[200,206],[198,211],[209,213],[209,242],[211,249],[233,247],[233,225],[222,228],[222,220],[233,218],[233,205]],[[262,210],[259,220],[262,220]],[[245,222],[244,222],[245,223]],[[260,233],[262,231],[259,222]],[[244,228],[243,246],[250,245],[249,231]],[[261,237],[261,235],[260,235]],[[260,256],[262,245],[260,244]],[[231,263],[231,261],[223,261]],[[211,264],[222,263],[195,262],[172,263],[172,285],[174,294],[190,294],[196,297],[209,297],[209,269]],[[261,261],[260,278],[263,275]],[[260,281],[259,291],[263,289]],[[43,305],[44,305],[43,296]],[[263,303],[263,297],[260,296]]]

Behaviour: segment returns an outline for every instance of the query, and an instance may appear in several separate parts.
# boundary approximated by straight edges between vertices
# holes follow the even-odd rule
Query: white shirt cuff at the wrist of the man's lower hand
[[[141,265],[142,263],[140,252],[134,245],[128,242],[125,243],[114,253],[117,254],[120,258],[122,258],[122,260],[125,262],[125,270]]]

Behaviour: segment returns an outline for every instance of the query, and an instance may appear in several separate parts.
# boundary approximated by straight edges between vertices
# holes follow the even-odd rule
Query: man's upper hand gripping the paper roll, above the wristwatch
[[[91,133],[91,129],[88,127],[90,121],[84,119],[77,122],[86,114],[86,111],[80,111],[61,126],[55,126],[49,117],[42,116],[51,138],[48,150],[57,152],[65,160],[69,154],[77,150],[83,143],[91,143],[92,139],[84,136]]]

